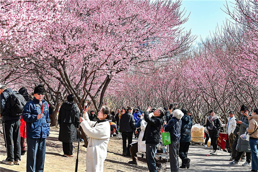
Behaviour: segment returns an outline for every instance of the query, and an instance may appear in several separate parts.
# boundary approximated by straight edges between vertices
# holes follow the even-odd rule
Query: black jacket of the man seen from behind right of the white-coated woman
[[[134,125],[134,116],[130,112],[125,112],[120,119],[119,131],[133,132],[135,130]]]

